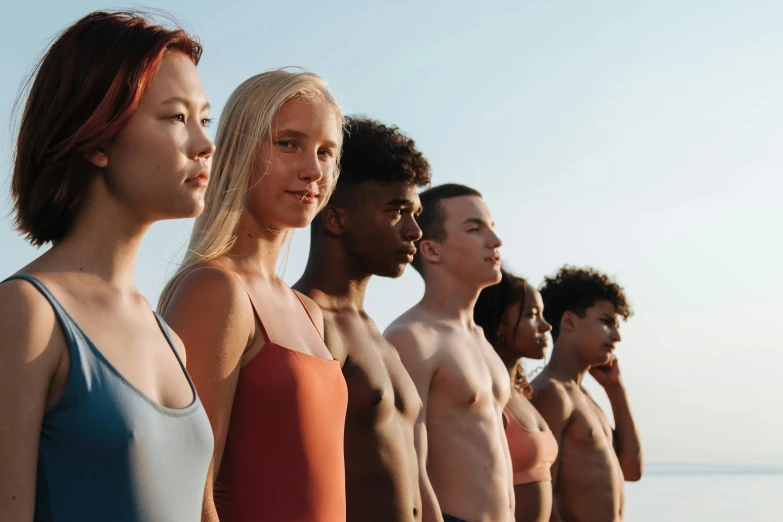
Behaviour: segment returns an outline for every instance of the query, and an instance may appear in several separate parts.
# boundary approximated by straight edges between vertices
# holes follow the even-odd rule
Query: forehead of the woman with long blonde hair
[[[342,141],[337,109],[325,98],[288,100],[280,107],[273,125],[275,133],[297,131],[311,138]]]

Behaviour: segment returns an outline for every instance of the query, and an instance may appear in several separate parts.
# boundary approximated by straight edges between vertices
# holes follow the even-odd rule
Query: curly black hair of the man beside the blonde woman
[[[365,181],[424,187],[430,184],[431,174],[430,164],[416,148],[416,142],[396,126],[364,116],[345,118],[340,177],[332,196],[338,201],[345,192]]]

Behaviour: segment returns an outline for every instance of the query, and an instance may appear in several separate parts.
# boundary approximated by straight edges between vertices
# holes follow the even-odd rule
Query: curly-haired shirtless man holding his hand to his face
[[[557,439],[552,522],[619,522],[624,480],[642,476],[642,448],[614,356],[618,316],[631,315],[623,289],[592,269],[563,267],[541,287],[552,325],[552,359],[533,380],[532,402]],[[582,388],[590,373],[609,396],[606,415]]]

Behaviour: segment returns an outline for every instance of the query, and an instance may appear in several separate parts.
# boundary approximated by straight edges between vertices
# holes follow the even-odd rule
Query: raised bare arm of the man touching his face
[[[615,425],[612,439],[623,477],[628,481],[637,481],[642,478],[642,443],[631,414],[617,359],[613,358],[606,366],[591,368],[590,375],[604,387],[612,404]]]

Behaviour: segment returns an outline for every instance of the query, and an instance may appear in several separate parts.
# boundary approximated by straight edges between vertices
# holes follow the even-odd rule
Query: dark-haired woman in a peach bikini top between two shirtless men
[[[546,522],[552,511],[550,468],[557,442],[530,403],[532,388],[521,359],[543,359],[547,333],[541,295],[524,279],[502,270],[495,286],[481,291],[474,309],[476,324],[508,368],[511,399],[504,411],[506,438],[514,470],[516,522]]]

